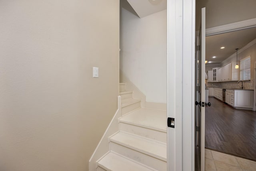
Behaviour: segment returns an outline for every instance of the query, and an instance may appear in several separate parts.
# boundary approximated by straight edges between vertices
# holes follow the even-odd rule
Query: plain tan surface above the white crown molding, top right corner
[[[196,0],[196,30],[199,30],[201,8],[206,7],[206,28],[256,18],[256,0]]]

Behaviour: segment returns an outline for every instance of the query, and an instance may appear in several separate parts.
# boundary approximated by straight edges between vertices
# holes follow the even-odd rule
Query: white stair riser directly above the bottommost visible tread
[[[167,163],[150,155],[146,155],[139,151],[124,147],[114,142],[110,142],[110,150],[125,157],[128,157],[132,160],[138,161],[144,165],[152,167],[158,171],[167,171]]]

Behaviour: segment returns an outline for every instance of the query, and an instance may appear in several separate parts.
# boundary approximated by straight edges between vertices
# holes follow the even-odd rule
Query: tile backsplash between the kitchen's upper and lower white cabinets
[[[206,81],[207,87],[218,87],[218,88],[240,88],[239,86],[242,85],[242,83],[237,83],[238,81],[226,81],[226,82],[218,82],[218,83],[208,83]],[[254,79],[251,79],[250,81],[243,81],[244,89],[253,90],[254,89]]]

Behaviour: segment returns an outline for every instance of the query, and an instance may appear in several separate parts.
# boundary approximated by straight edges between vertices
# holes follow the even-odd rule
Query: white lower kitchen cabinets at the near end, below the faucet
[[[235,108],[253,108],[253,90],[226,90],[226,103]]]

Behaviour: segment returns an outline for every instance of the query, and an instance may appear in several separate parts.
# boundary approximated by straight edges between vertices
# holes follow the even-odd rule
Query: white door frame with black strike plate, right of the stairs
[[[167,0],[168,171],[194,171],[195,0]]]

